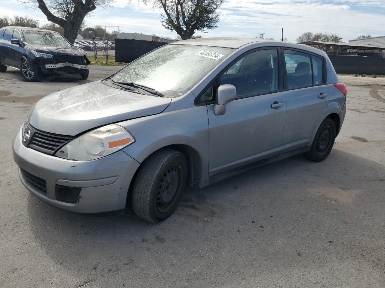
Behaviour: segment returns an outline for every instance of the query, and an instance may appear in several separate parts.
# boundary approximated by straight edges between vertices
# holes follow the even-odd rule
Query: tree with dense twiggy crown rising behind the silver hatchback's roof
[[[195,31],[207,33],[207,30],[217,28],[219,12],[217,9],[223,0],[142,0],[161,8],[162,25],[164,28],[181,36],[182,40],[190,39]]]

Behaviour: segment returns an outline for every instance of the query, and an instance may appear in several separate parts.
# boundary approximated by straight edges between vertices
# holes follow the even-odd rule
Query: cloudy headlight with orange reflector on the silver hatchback
[[[55,156],[89,161],[107,156],[135,142],[126,129],[117,124],[97,128],[79,136],[60,148]]]

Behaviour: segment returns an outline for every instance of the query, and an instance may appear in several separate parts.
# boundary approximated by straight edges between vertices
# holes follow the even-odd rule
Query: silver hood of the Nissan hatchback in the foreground
[[[28,122],[44,132],[75,136],[105,124],[161,113],[170,103],[171,98],[133,93],[96,81],[40,99]]]

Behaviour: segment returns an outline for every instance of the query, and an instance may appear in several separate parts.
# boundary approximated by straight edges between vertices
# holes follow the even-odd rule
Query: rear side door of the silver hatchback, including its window
[[[329,98],[323,57],[283,49],[287,115],[281,153],[311,145]]]

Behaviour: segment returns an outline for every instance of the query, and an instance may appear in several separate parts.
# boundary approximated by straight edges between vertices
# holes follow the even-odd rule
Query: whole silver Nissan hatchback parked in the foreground
[[[42,98],[13,156],[23,185],[49,204],[86,214],[132,205],[159,222],[187,184],[202,188],[299,153],[323,161],[345,101],[345,85],[316,48],[184,40]]]

